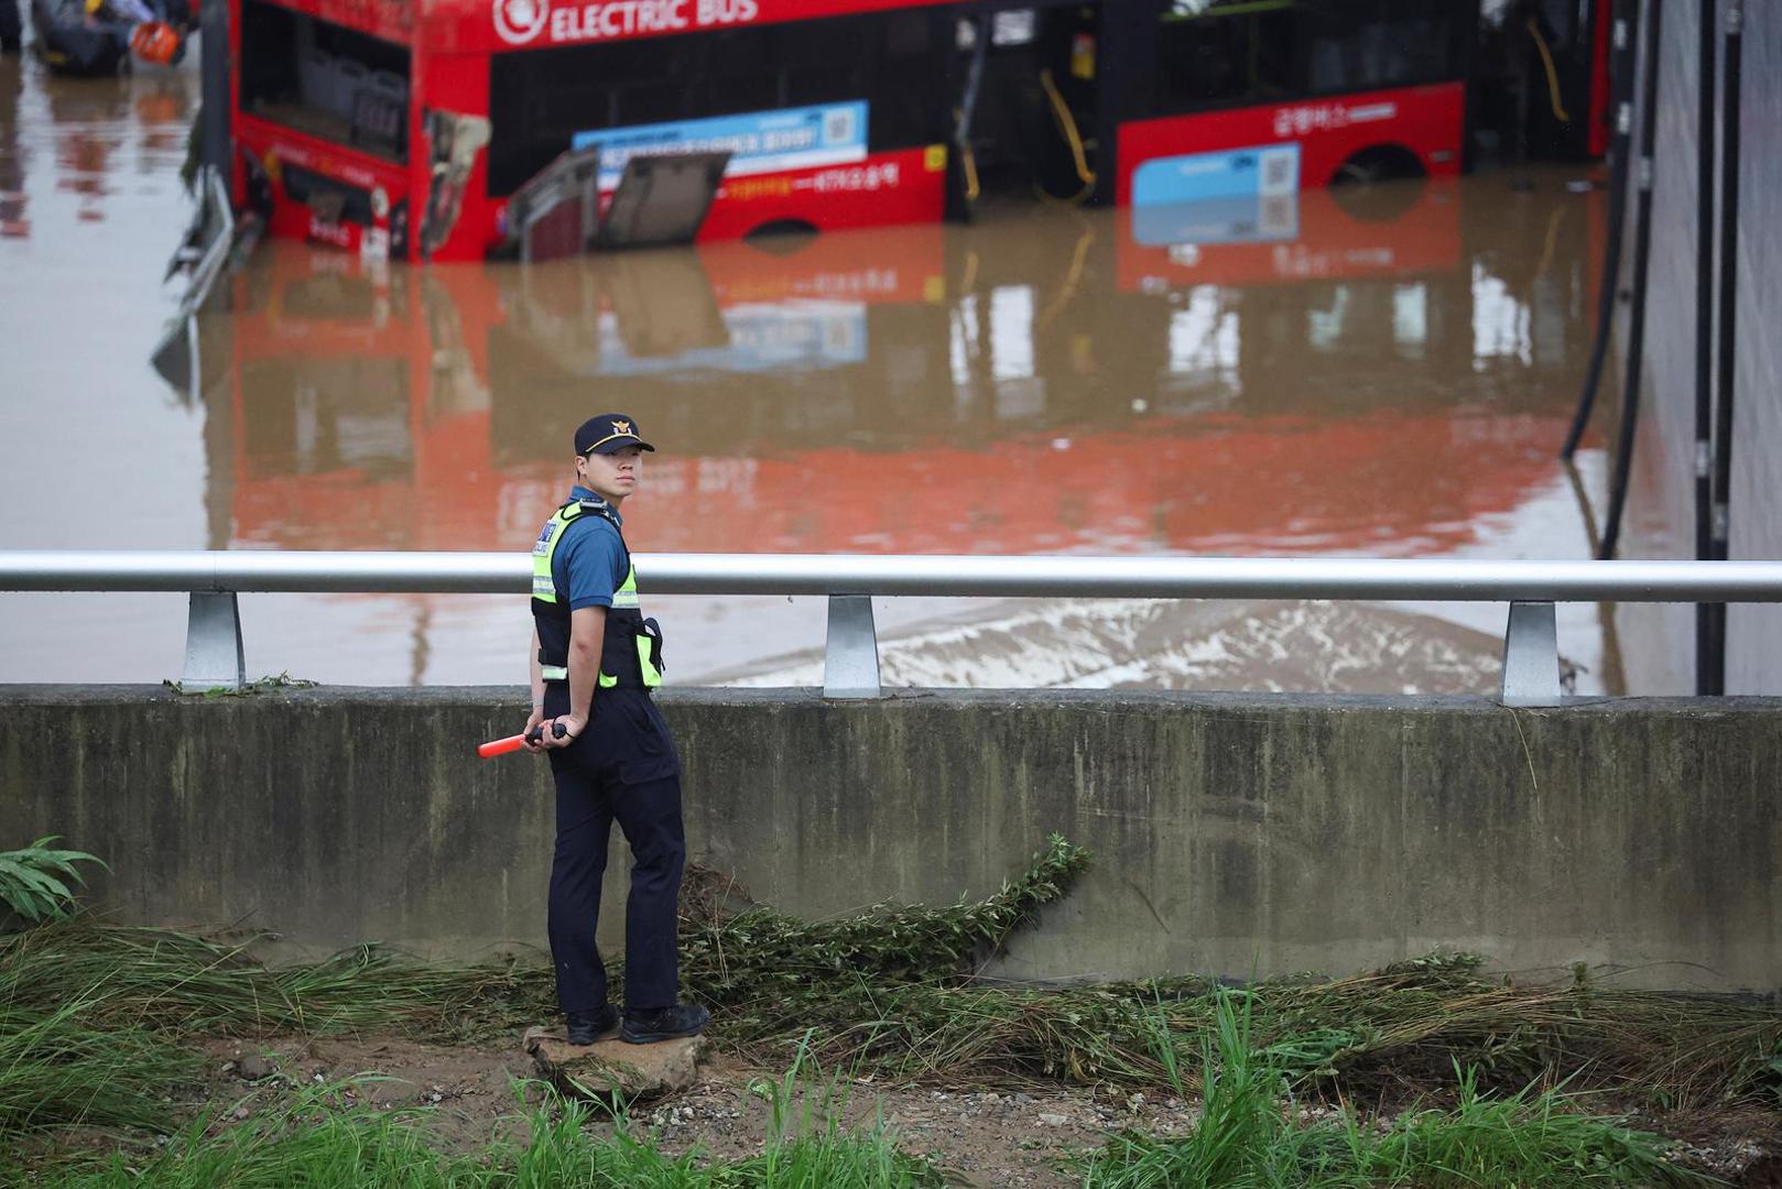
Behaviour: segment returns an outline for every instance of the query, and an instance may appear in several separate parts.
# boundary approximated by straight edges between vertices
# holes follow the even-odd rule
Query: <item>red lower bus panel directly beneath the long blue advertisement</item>
[[[699,239],[738,239],[784,221],[809,223],[822,232],[937,223],[944,205],[946,148],[903,148],[848,166],[727,178]]]

